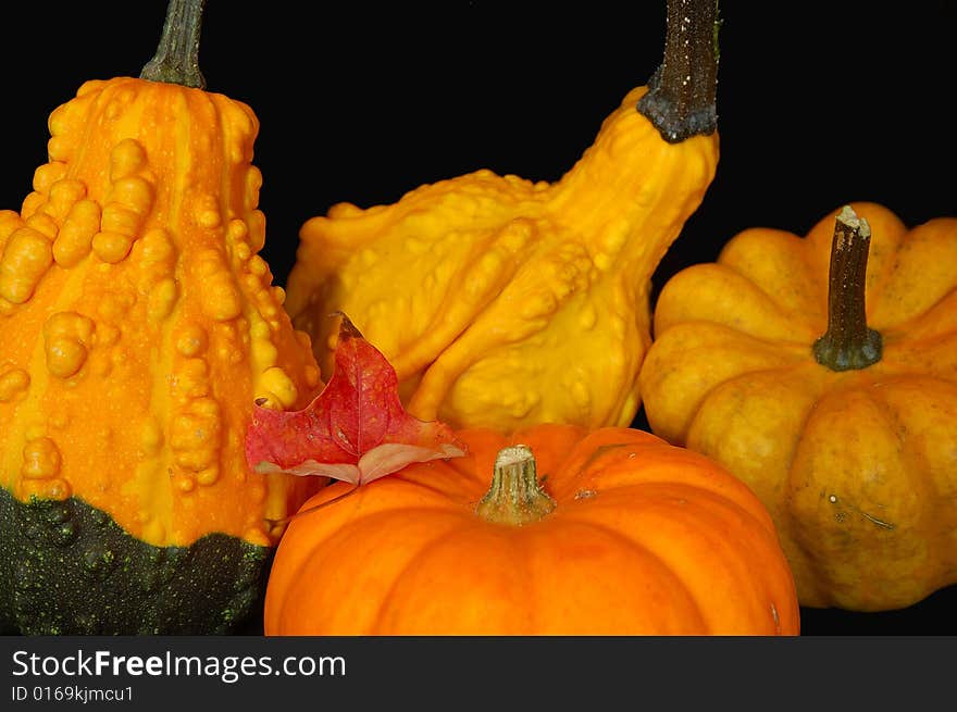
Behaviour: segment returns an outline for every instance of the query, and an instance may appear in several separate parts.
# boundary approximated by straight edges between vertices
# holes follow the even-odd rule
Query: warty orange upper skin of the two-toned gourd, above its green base
[[[246,465],[253,398],[303,405],[309,339],[271,285],[253,112],[120,77],[50,115],[0,211],[0,486],[82,498],[156,546],[274,544],[313,482]]]

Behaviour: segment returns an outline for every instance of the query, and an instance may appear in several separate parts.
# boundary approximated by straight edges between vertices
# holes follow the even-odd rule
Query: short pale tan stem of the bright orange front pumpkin
[[[492,487],[475,508],[486,522],[521,526],[537,522],[555,509],[555,500],[542,489],[535,455],[526,445],[499,450]]]

